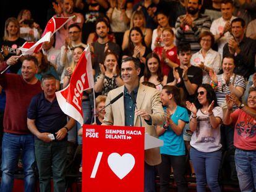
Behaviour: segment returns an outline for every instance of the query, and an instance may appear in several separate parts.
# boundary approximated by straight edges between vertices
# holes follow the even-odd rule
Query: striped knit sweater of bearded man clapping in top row
[[[181,19],[186,15],[178,17],[175,28],[176,28],[176,44],[189,43],[193,53],[199,51],[201,46],[199,44],[199,36],[202,31],[210,31],[211,19],[208,15],[199,15],[197,19],[193,21],[194,28],[192,29],[189,25],[181,28]]]

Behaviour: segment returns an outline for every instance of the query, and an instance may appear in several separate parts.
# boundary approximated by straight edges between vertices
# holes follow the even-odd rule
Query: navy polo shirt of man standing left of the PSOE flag
[[[35,119],[40,133],[56,133],[67,123],[67,115],[61,111],[57,99],[49,102],[43,92],[32,98],[28,107],[28,119]]]

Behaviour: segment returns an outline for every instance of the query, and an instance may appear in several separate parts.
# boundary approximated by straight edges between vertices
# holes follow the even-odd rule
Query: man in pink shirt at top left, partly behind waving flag
[[[71,17],[75,15],[74,19],[67,22],[64,27],[60,28],[56,32],[55,48],[61,49],[61,46],[65,43],[65,39],[69,32],[67,26],[71,25],[72,23],[77,23],[79,24],[80,28],[82,28],[84,18],[82,14],[74,12],[74,0],[61,0],[59,4],[54,4],[53,8],[57,17]]]

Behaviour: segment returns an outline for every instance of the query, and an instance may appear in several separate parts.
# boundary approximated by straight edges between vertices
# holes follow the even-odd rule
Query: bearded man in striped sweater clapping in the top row
[[[187,14],[179,16],[175,24],[176,44],[190,44],[193,53],[201,48],[198,42],[200,33],[209,31],[211,27],[210,17],[200,14],[201,7],[201,0],[189,0]]]

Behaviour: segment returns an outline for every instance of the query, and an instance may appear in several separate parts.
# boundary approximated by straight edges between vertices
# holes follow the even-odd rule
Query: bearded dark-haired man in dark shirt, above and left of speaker
[[[91,51],[93,52],[93,69],[95,77],[100,73],[100,65],[104,62],[105,52],[114,52],[118,57],[120,55],[120,47],[118,44],[108,39],[109,23],[105,19],[100,18],[96,21],[96,34],[98,40],[92,43]]]

